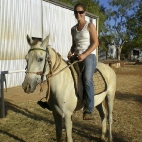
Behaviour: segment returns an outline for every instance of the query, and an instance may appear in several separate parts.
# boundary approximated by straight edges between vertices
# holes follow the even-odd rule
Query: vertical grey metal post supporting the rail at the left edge
[[[4,74],[0,75],[0,93],[1,93],[1,117],[4,118],[5,117],[5,104],[4,104],[4,86],[3,86],[3,82],[4,82]]]

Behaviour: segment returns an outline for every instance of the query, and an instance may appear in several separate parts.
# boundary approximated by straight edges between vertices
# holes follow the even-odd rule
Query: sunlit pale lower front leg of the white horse
[[[66,141],[73,142],[72,140],[72,120],[71,114],[65,115],[65,127],[66,127]]]

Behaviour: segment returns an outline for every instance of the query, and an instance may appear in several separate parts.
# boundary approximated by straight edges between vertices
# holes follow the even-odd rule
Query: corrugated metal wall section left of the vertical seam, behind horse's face
[[[41,37],[41,24],[40,0],[0,0],[1,71],[25,68],[26,35]],[[7,87],[21,85],[24,76],[24,72],[6,75]]]

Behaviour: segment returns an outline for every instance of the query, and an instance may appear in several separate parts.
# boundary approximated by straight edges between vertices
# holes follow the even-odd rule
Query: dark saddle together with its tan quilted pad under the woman
[[[71,64],[70,61],[67,61],[67,64]],[[75,63],[70,67],[70,71],[74,80],[74,88],[78,98],[83,100],[83,83],[82,83],[82,70],[83,65],[81,62]],[[99,95],[106,91],[107,84],[98,68],[96,68],[93,76],[94,81],[94,95]]]

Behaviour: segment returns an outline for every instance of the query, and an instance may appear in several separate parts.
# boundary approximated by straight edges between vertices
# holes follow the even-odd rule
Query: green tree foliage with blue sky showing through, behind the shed
[[[104,50],[107,50],[111,40],[115,40],[119,48],[124,48],[122,53],[126,54],[131,48],[142,46],[141,0],[108,0],[107,9],[99,4],[99,0],[59,1],[71,6],[81,2],[87,12],[99,17],[99,43]]]

